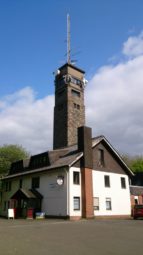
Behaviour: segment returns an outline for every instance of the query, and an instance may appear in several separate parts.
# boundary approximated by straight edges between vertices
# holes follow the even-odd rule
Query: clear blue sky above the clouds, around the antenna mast
[[[53,93],[52,73],[66,59],[68,12],[73,58],[88,79],[143,27],[141,0],[0,0],[1,96],[25,86],[38,97]]]

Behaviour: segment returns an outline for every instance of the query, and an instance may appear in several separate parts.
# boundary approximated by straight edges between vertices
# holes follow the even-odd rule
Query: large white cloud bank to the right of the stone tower
[[[142,67],[142,55],[102,67],[87,86],[87,123],[123,153],[143,154]]]

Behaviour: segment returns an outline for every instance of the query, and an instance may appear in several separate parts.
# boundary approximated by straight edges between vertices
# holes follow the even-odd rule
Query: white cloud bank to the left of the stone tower
[[[21,144],[31,153],[52,148],[53,95],[36,99],[26,87],[0,101],[0,144]]]

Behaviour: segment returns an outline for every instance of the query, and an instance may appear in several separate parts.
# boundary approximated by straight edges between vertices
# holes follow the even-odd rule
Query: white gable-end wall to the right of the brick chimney
[[[110,176],[110,187],[105,187],[104,175]],[[121,177],[126,180],[126,189],[121,188]],[[131,213],[127,175],[93,170],[93,197],[99,197],[99,211],[94,210],[95,216],[130,215]],[[106,210],[106,198],[111,198],[112,210]]]

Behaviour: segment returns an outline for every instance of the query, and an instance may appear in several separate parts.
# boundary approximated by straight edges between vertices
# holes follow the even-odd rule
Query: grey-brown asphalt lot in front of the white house
[[[143,254],[143,220],[0,219],[0,255]]]

